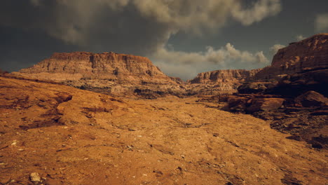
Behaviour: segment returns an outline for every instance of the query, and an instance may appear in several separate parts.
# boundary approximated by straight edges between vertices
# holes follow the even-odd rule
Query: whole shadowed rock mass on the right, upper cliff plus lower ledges
[[[271,128],[317,149],[328,149],[328,34],[282,48],[271,66],[238,86],[234,95],[199,102],[226,102],[221,109],[252,114]]]

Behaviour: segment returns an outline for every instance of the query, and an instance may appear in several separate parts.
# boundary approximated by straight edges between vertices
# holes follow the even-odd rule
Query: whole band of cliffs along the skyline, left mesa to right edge
[[[317,34],[278,50],[263,69],[207,71],[184,83],[166,76],[146,57],[118,53],[54,53],[15,74],[51,80],[111,95],[221,95],[237,92],[242,83],[277,81],[285,76],[328,68],[328,34]],[[275,85],[275,84],[273,84]],[[250,86],[250,87],[248,87]],[[260,88],[260,83],[244,85]],[[257,89],[258,90],[258,89]]]

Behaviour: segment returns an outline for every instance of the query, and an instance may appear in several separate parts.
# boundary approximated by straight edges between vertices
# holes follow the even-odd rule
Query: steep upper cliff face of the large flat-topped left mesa
[[[43,73],[64,74],[63,78],[50,75],[53,80],[77,80],[79,78],[106,78],[114,81],[127,80],[129,83],[152,81],[172,83],[146,57],[123,55],[118,53],[54,53],[33,67],[20,70],[33,76],[47,78]],[[66,75],[65,75],[66,74]]]

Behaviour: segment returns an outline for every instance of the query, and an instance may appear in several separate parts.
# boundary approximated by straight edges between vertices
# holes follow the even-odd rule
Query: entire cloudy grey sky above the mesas
[[[0,69],[55,52],[113,51],[187,80],[268,66],[278,49],[324,32],[327,0],[3,0]]]

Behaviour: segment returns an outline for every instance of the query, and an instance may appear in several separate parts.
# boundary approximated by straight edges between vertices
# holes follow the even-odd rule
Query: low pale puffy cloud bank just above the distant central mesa
[[[251,53],[238,50],[231,43],[226,43],[226,46],[217,50],[207,46],[203,52],[182,52],[160,48],[149,57],[166,74],[181,76],[184,80],[191,79],[202,71],[234,69],[235,66],[255,69],[269,63],[262,51]]]

